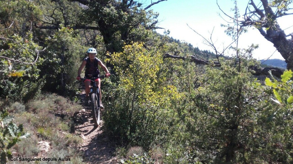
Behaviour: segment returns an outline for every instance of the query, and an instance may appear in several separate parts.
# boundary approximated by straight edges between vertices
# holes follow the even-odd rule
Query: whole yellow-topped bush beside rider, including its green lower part
[[[121,53],[109,55],[112,58],[107,61],[114,65],[119,78],[116,90],[119,96],[113,103],[115,110],[109,115],[115,116],[115,120],[110,121],[109,128],[119,126],[113,132],[130,139],[132,144],[145,147],[165,139],[163,133],[168,132],[168,121],[173,119],[167,116],[176,115],[173,108],[170,109],[174,105],[172,101],[180,99],[181,95],[178,88],[164,81],[166,78],[160,70],[163,65],[161,53],[144,48],[142,43],[132,42],[125,45]],[[126,118],[117,119],[122,116]]]

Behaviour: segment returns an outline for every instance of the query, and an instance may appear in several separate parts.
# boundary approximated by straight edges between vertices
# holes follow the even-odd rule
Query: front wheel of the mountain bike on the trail
[[[100,96],[96,93],[91,95],[91,111],[94,124],[100,125]]]

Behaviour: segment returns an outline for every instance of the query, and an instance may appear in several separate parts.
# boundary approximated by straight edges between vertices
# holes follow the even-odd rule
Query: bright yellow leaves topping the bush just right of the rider
[[[143,48],[142,44],[124,46],[122,53],[114,53],[111,62],[120,74],[121,86],[127,90],[136,90],[142,100],[152,94],[151,88],[156,82],[156,72],[162,62],[159,54]]]

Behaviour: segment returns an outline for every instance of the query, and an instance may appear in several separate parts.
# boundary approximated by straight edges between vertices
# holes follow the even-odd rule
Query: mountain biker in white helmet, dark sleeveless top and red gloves
[[[80,80],[81,70],[84,68],[84,66],[86,66],[86,69],[85,69],[85,77],[86,78],[90,78],[89,75],[92,75],[92,77],[98,77],[98,74],[100,74],[100,71],[98,69],[98,65],[101,66],[103,68],[103,70],[106,72],[106,74],[105,74],[106,77],[109,77],[111,75],[109,73],[107,67],[101,62],[101,60],[99,60],[96,57],[97,51],[95,48],[88,48],[87,54],[88,54],[88,57],[84,58],[84,60],[82,61],[81,65],[77,71],[76,80]],[[97,78],[95,81],[96,81],[97,87],[100,90],[100,108],[103,109],[104,106],[101,101],[102,96],[101,96],[101,89],[100,89],[100,84],[101,84],[100,78]],[[84,81],[84,85],[86,87],[86,100],[88,100],[88,93],[90,92],[90,89],[91,89],[91,81],[86,79]]]

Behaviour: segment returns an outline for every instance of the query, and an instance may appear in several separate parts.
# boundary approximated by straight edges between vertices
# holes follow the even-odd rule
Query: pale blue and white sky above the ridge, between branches
[[[158,0],[141,0],[144,6],[151,4],[151,1],[156,2]],[[257,4],[258,0],[255,0]],[[232,0],[218,0],[218,4],[221,9],[227,14],[233,15],[231,8],[234,7],[234,1]],[[244,10],[248,4],[248,0],[239,0],[238,6],[240,14],[244,13]],[[180,41],[186,41],[191,43],[194,47],[199,47],[202,50],[211,50],[209,46],[203,43],[201,36],[193,32],[195,30],[205,38],[210,38],[210,33],[213,31],[212,40],[217,48],[223,49],[231,43],[231,39],[224,34],[224,27],[221,24],[227,24],[223,19],[229,21],[229,18],[220,11],[217,6],[216,0],[167,0],[155,4],[151,8],[155,12],[159,13],[159,27],[170,30],[170,37],[179,39]],[[221,18],[222,15],[223,18]],[[278,20],[282,29],[286,34],[293,32],[293,22],[291,21],[293,16],[285,16]],[[290,20],[290,21],[288,21]],[[193,29],[190,29],[187,24]],[[163,29],[158,29],[157,32],[163,34]],[[273,44],[267,41],[257,29],[251,27],[248,32],[240,36],[239,48],[247,48],[252,43],[259,44],[259,48],[254,51],[253,57],[256,59],[283,59],[278,53]],[[229,54],[226,54],[229,55]]]

